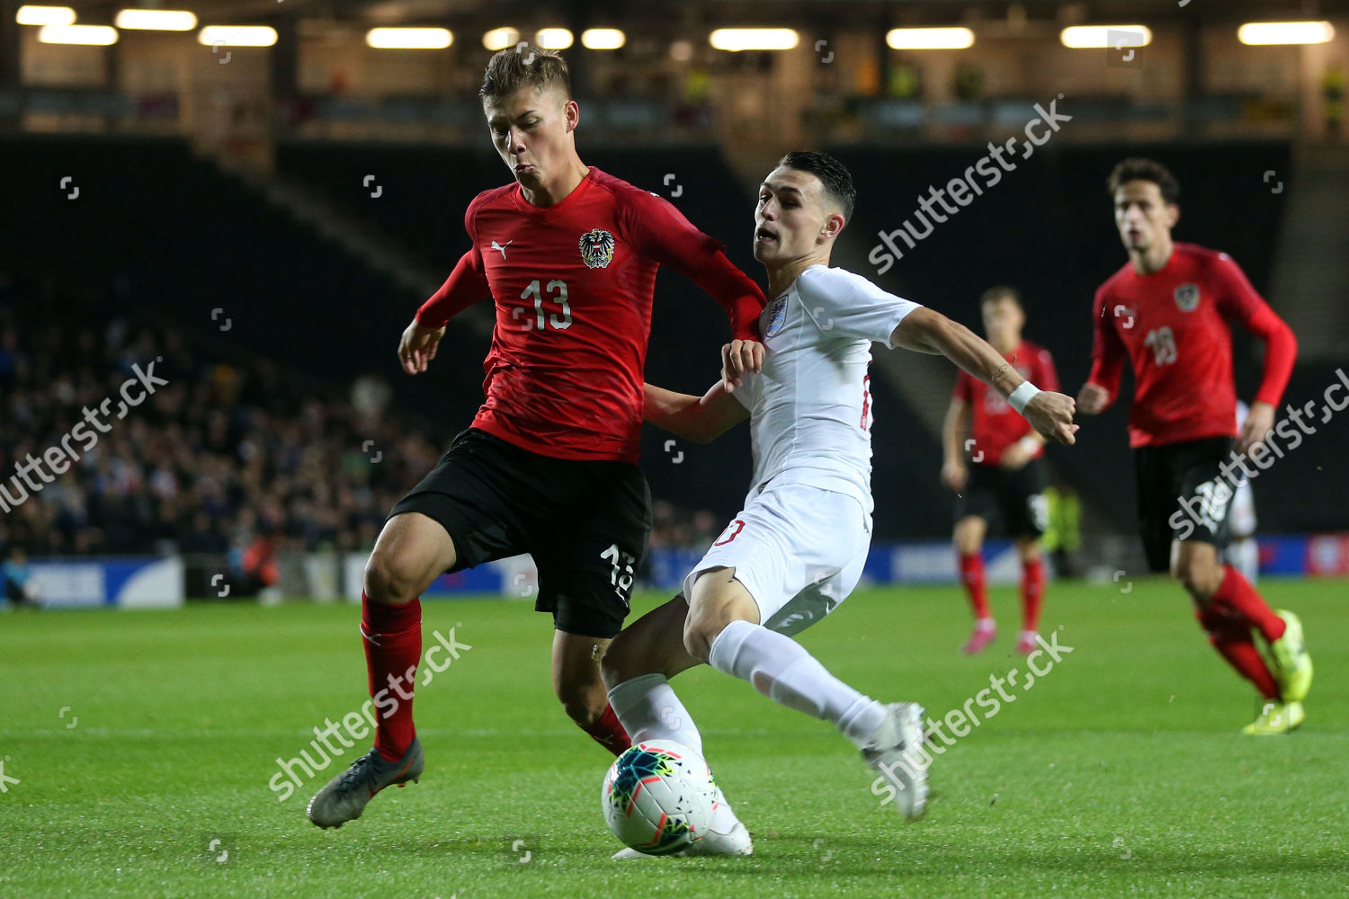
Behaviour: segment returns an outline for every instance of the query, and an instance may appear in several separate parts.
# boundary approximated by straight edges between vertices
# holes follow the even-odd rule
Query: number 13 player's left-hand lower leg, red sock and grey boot
[[[359,818],[384,787],[418,782],[426,760],[413,726],[413,687],[421,660],[421,592],[455,565],[445,528],[420,512],[384,523],[362,592],[360,635],[370,695],[375,701],[375,747],[309,801],[309,819],[340,828]]]

